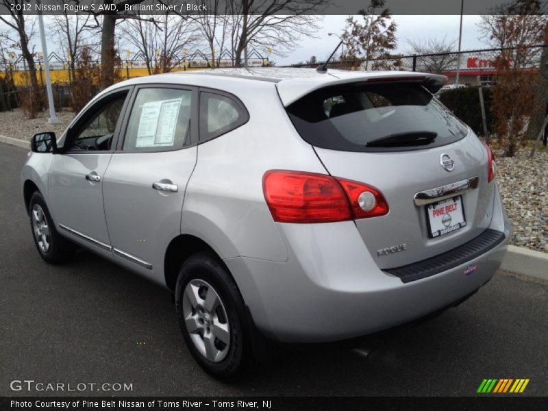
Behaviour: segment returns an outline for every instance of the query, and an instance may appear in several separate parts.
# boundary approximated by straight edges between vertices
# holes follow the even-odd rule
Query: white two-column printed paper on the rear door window
[[[182,97],[142,105],[135,147],[173,145]]]

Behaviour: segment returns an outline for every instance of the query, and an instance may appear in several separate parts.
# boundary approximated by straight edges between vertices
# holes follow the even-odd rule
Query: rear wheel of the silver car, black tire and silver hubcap
[[[252,358],[245,306],[219,258],[207,252],[188,258],[175,299],[186,346],[201,368],[226,382],[241,377]]]

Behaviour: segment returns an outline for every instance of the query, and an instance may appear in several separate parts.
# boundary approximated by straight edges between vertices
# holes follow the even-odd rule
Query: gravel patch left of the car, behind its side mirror
[[[39,132],[54,132],[59,137],[74,119],[75,113],[66,108],[55,115],[60,120],[59,124],[47,123],[48,111],[41,112],[36,119],[32,120],[25,119],[23,111],[19,108],[12,112],[0,112],[0,134],[21,140],[30,140]]]

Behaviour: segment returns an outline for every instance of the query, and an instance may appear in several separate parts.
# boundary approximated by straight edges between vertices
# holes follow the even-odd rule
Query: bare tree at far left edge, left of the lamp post
[[[30,110],[27,113],[30,118],[36,116],[36,112],[42,108],[42,98],[40,89],[38,88],[38,77],[36,77],[36,66],[34,64],[34,47],[31,47],[30,40],[34,36],[34,21],[29,24],[28,16],[25,16],[23,10],[27,4],[25,0],[0,0],[0,4],[4,6],[10,14],[0,14],[0,21],[8,25],[10,29],[16,33],[16,38],[12,38],[9,33],[1,34],[6,40],[16,43],[18,49],[21,50],[23,59],[29,70],[29,104]],[[16,7],[12,8],[14,4]],[[17,7],[18,6],[18,7]]]

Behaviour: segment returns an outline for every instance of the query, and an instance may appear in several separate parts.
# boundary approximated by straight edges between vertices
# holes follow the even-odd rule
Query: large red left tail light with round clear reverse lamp
[[[271,170],[262,178],[264,199],[279,223],[329,223],[388,213],[381,192],[329,175]]]

